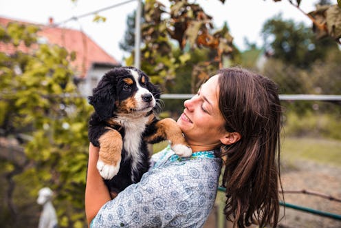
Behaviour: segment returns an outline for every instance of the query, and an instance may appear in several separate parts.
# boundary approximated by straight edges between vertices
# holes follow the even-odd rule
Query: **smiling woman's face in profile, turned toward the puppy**
[[[200,145],[211,149],[221,145],[220,138],[225,133],[225,121],[218,105],[219,75],[212,76],[201,85],[192,99],[184,102],[184,113],[177,120],[190,145]]]

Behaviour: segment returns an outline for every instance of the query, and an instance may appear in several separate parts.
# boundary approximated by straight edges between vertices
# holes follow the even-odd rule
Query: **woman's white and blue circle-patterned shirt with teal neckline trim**
[[[203,227],[217,195],[221,159],[179,158],[170,147],[152,157],[140,183],[103,205],[91,227]]]

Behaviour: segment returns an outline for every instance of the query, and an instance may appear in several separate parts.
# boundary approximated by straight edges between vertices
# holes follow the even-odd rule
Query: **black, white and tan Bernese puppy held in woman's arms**
[[[120,67],[104,74],[88,98],[95,110],[89,141],[100,147],[97,169],[111,196],[139,182],[148,170],[147,143],[168,140],[175,154],[192,154],[177,123],[155,116],[159,94],[144,72]]]

